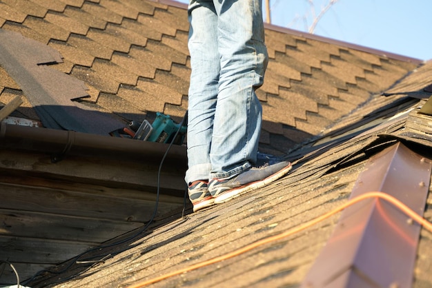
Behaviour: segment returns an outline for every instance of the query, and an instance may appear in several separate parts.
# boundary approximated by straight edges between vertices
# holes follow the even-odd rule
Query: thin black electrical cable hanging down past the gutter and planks
[[[177,130],[177,132],[175,132],[175,135],[173,136],[173,139],[171,140],[170,145],[168,145],[168,147],[166,148],[166,152],[165,152],[164,156],[162,157],[161,162],[159,163],[159,169],[157,171],[157,192],[156,192],[155,208],[153,209],[153,214],[150,217],[150,220],[148,221],[148,223],[146,223],[146,225],[144,225],[143,227],[141,227],[140,229],[138,229],[135,234],[132,234],[131,236],[128,236],[128,237],[124,238],[123,240],[119,240],[119,241],[117,241],[115,243],[111,243],[110,245],[98,246],[98,247],[94,247],[92,249],[88,249],[87,251],[84,251],[83,253],[79,254],[78,256],[75,256],[75,258],[72,258],[72,261],[70,261],[70,264],[68,266],[66,266],[65,268],[61,269],[60,271],[50,271],[50,270],[47,270],[47,269],[41,270],[41,271],[37,272],[37,274],[35,274],[34,276],[32,276],[32,278],[30,278],[30,279],[28,279],[26,281],[23,281],[23,283],[25,283],[24,285],[26,285],[29,282],[32,282],[32,280],[35,280],[35,278],[37,278],[37,276],[39,276],[39,275],[41,275],[43,273],[50,273],[50,274],[57,274],[57,275],[58,274],[62,274],[64,272],[68,271],[68,269],[70,269],[70,267],[72,267],[72,265],[74,265],[74,264],[91,264],[90,267],[88,267],[88,269],[90,269],[92,267],[92,265],[95,265],[97,263],[104,263],[105,259],[108,258],[108,256],[117,255],[117,254],[119,254],[119,253],[121,253],[123,251],[126,251],[126,249],[122,249],[120,251],[117,251],[115,254],[105,255],[104,257],[102,257],[99,260],[79,260],[79,259],[82,256],[84,256],[84,255],[86,255],[86,254],[88,254],[88,253],[90,253],[92,251],[97,251],[97,250],[101,250],[101,249],[115,247],[117,245],[121,245],[123,243],[126,243],[126,242],[132,240],[133,238],[139,236],[141,233],[143,233],[143,232],[146,231],[146,229],[150,226],[150,224],[153,223],[153,220],[155,220],[155,217],[156,217],[156,214],[157,214],[157,207],[159,205],[159,189],[160,189],[160,176],[161,176],[162,165],[164,164],[165,158],[168,155],[168,152],[170,151],[171,146],[173,146],[173,143],[174,143],[175,139],[177,138],[177,135],[179,134],[179,132],[181,130],[181,127],[183,127],[184,125],[186,125],[187,119],[188,119],[188,111],[186,110],[186,113],[184,114],[183,119],[181,120],[181,123],[179,125],[179,129]],[[187,192],[187,189],[186,189],[186,192]],[[182,218],[184,218],[185,207],[186,207],[186,193],[185,193],[185,196],[184,196],[184,207],[183,207],[183,212],[182,212],[182,215],[181,215]],[[139,244],[137,244],[137,245],[139,245]],[[127,249],[130,249],[130,247],[128,247]],[[95,257],[92,257],[92,258],[95,258]],[[86,269],[84,271],[81,271],[79,274],[82,274],[85,271],[88,271],[88,269]],[[75,276],[77,276],[79,274],[75,274],[75,275],[70,276],[68,278],[62,279],[62,281],[70,279],[70,278],[74,278]]]

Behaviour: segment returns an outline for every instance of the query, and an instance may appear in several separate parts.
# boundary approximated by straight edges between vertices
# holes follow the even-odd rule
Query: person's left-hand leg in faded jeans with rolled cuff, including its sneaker
[[[217,14],[213,0],[192,0],[189,8],[190,86],[188,94],[188,171],[185,180],[194,211],[213,204],[207,182],[219,82]]]

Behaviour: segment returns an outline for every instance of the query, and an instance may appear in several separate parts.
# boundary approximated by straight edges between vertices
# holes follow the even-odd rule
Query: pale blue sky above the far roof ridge
[[[313,0],[319,14],[330,0]],[[188,3],[188,0],[179,0]],[[271,0],[271,22],[307,31],[313,22],[307,0]],[[265,6],[264,15],[265,15]],[[385,52],[432,59],[431,0],[338,0],[315,34]]]

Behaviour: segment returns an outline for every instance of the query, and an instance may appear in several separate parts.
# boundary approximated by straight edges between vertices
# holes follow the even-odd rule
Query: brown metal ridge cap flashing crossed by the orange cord
[[[432,161],[402,143],[370,159],[351,198],[381,191],[424,212]],[[383,200],[344,210],[302,287],[411,287],[420,225]]]

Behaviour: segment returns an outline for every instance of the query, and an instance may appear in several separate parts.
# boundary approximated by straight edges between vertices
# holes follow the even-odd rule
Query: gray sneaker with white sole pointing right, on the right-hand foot
[[[282,176],[288,174],[291,168],[291,163],[287,161],[263,167],[251,167],[245,172],[230,178],[210,180],[208,190],[215,198],[215,204],[224,203],[282,178]]]

